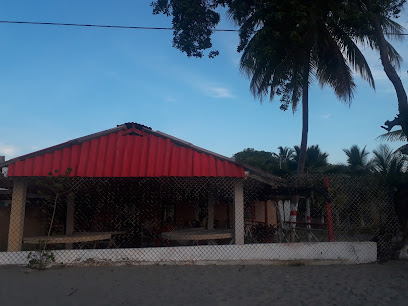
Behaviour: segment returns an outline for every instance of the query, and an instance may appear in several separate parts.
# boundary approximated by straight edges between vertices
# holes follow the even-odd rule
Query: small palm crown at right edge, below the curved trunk
[[[392,152],[386,144],[381,144],[373,150],[374,158],[371,163],[374,171],[384,176],[398,175],[405,171],[406,158],[399,152]]]

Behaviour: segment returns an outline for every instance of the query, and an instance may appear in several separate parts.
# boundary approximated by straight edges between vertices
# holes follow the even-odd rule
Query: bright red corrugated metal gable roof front
[[[6,162],[8,176],[244,177],[233,160],[139,124],[74,139]]]

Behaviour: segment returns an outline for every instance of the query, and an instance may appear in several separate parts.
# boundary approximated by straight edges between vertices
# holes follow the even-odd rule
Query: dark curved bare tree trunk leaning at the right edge
[[[404,85],[400,77],[398,76],[397,71],[392,65],[390,58],[387,52],[387,41],[384,37],[384,32],[381,27],[378,17],[374,17],[374,26],[378,39],[378,48],[380,50],[381,63],[384,67],[385,74],[388,79],[394,85],[395,91],[397,93],[398,99],[398,111],[399,115],[393,121],[387,121],[385,124],[388,125],[388,128],[391,130],[394,125],[401,125],[404,134],[408,137],[408,100],[407,93],[405,92]]]

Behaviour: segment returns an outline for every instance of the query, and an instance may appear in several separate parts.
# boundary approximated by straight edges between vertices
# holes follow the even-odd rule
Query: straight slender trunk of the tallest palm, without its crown
[[[300,143],[300,153],[297,168],[296,186],[302,185],[302,176],[305,171],[306,151],[307,151],[307,134],[309,131],[309,72],[310,72],[310,50],[306,51],[305,66],[303,68],[303,88],[302,88],[302,140]],[[297,209],[299,204],[299,195],[292,197],[291,222],[296,222]],[[290,242],[295,242],[296,223],[290,223]]]

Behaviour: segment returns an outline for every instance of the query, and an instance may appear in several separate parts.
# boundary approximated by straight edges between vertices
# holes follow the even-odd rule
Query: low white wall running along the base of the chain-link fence
[[[0,265],[28,263],[29,252],[0,253]],[[377,260],[375,242],[273,243],[203,245],[143,249],[97,249],[54,251],[56,264],[231,264],[231,263],[345,263]]]

